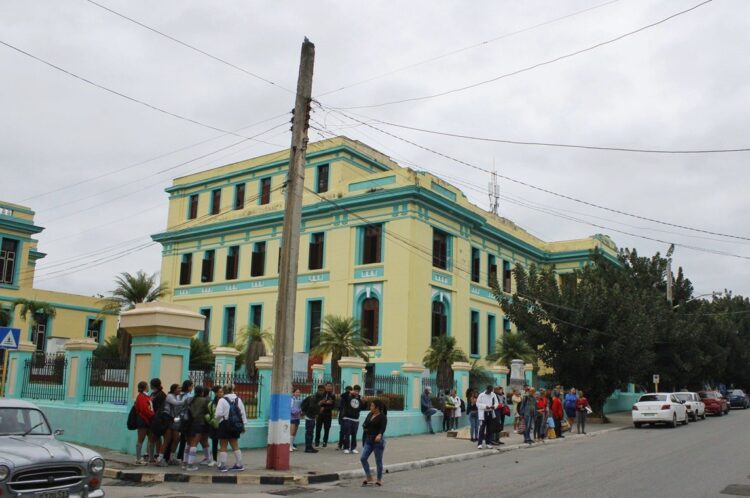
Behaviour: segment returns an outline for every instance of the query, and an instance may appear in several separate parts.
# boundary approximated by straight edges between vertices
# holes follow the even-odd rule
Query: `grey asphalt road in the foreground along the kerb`
[[[386,475],[382,488],[363,488],[359,481],[307,490],[267,486],[115,486],[107,489],[107,495],[688,498],[726,497],[721,492],[727,486],[738,485],[743,488],[735,489],[746,493],[742,496],[750,496],[748,425],[750,410],[735,410],[728,416],[709,417],[677,429],[629,428]],[[273,494],[266,494],[269,492]]]

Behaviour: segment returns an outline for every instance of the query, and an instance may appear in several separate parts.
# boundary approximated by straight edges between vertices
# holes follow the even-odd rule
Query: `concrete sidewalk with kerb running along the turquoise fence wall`
[[[600,424],[589,421],[587,435],[567,433],[565,439],[555,439],[543,444],[565,444],[570,439],[594,437],[612,430],[631,426],[630,412],[608,415],[610,423]],[[507,426],[506,426],[507,427]],[[301,436],[301,435],[300,435]],[[304,449],[304,444],[298,448]],[[386,438],[385,468],[387,472],[400,472],[443,463],[471,460],[494,455],[498,452],[526,448],[523,436],[510,433],[503,438],[505,443],[497,449],[477,450],[476,444],[468,439],[449,438],[444,433],[435,435],[402,436]],[[536,447],[538,445],[534,445]],[[98,449],[107,461],[106,477],[134,482],[193,482],[193,483],[236,483],[236,484],[315,484],[332,482],[340,479],[352,479],[363,476],[358,454],[345,455],[336,451],[336,443],[327,448],[318,448],[317,454],[304,453],[302,450],[291,454],[291,470],[287,472],[266,470],[266,450],[243,450],[242,460],[245,471],[219,473],[215,468],[201,467],[195,472],[186,472],[180,467],[136,467],[134,457],[106,449]],[[361,450],[361,448],[359,448]],[[200,458],[200,457],[199,457]],[[234,456],[229,452],[229,464]]]

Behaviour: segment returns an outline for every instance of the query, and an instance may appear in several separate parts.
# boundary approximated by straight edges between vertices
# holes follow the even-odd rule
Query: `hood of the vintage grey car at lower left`
[[[85,466],[99,456],[94,451],[58,441],[52,436],[2,436],[0,447],[0,464],[10,468],[65,462],[80,462]]]

